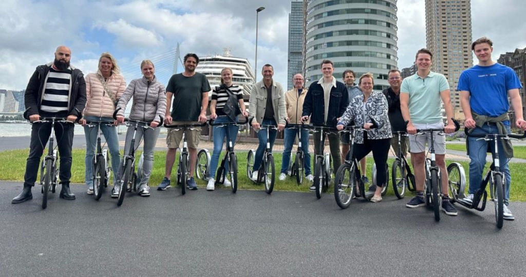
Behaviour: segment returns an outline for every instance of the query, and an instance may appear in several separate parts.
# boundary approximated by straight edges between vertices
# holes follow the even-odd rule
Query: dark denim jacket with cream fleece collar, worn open
[[[349,94],[345,84],[336,81],[336,88],[331,87],[329,97],[329,110],[327,114],[327,125],[335,126],[347,105],[349,104]],[[303,113],[301,116],[309,115],[312,124],[323,124],[325,119],[325,98],[323,87],[318,81],[310,84],[305,101],[303,103]]]

